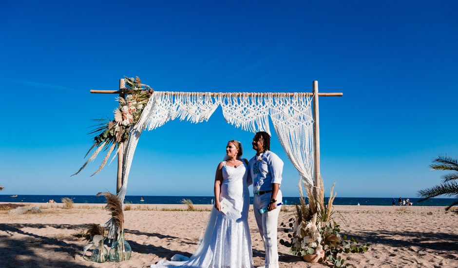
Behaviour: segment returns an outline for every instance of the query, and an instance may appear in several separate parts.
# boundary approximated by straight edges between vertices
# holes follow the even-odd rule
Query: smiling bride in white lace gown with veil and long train
[[[160,261],[152,268],[253,267],[248,226],[248,186],[251,182],[248,178],[248,160],[241,156],[242,144],[230,140],[226,146],[225,161],[216,168],[215,204],[202,242],[194,254],[190,258],[175,254],[172,261]]]

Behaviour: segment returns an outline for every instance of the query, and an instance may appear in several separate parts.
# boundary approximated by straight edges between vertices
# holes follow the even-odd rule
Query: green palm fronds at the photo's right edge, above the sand
[[[429,165],[433,170],[451,171],[448,174],[442,175],[442,183],[432,188],[418,191],[418,196],[422,199],[418,202],[424,201],[431,197],[439,195],[455,196],[458,198],[458,158],[451,158],[446,155],[439,155],[438,158],[433,160],[432,165]],[[451,207],[456,206],[458,200],[453,202],[445,210],[450,210]],[[458,211],[456,211],[458,213]]]

